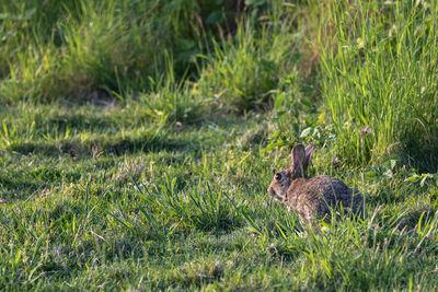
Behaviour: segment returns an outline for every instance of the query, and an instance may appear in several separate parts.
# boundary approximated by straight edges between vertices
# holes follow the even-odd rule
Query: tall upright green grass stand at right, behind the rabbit
[[[399,153],[408,165],[436,170],[437,3],[334,1],[326,8],[320,40],[331,39],[319,44],[321,86],[345,159],[362,165]]]

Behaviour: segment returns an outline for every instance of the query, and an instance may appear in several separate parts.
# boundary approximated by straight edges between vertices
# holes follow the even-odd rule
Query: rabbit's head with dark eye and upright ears
[[[302,144],[293,147],[290,154],[290,166],[276,172],[267,189],[270,197],[283,201],[290,184],[297,178],[307,177],[307,171],[313,150],[314,141],[306,149]]]

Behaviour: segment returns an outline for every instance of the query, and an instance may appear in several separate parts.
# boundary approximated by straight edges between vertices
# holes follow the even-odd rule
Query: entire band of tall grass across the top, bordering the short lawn
[[[215,3],[3,1],[2,103],[141,93],[152,119],[193,121],[265,108],[299,68],[347,163],[397,153],[436,168],[435,2]],[[289,97],[289,108],[301,98]]]

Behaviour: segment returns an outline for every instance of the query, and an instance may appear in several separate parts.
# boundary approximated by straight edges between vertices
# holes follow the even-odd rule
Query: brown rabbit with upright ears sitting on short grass
[[[328,222],[331,211],[341,205],[345,211],[360,214],[364,199],[357,189],[328,175],[308,176],[314,143],[306,149],[302,144],[293,147],[291,165],[275,173],[267,189],[269,196],[281,201],[289,212],[297,212],[301,226],[312,227],[315,219]]]

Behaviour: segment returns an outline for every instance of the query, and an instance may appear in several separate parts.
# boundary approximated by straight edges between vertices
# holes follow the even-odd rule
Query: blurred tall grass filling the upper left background
[[[150,89],[149,77],[194,70],[193,56],[215,25],[237,16],[214,1],[1,1],[1,97],[54,101]],[[200,15],[205,15],[203,20]]]

